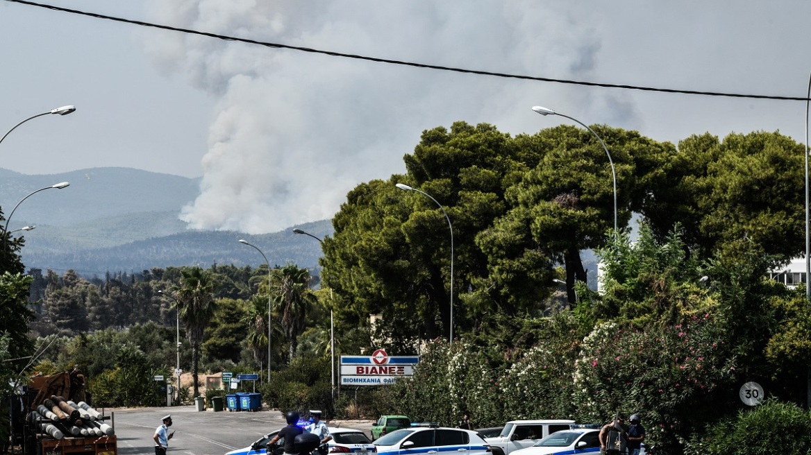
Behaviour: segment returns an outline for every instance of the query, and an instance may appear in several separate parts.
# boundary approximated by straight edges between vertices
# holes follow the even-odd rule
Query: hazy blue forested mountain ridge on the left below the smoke
[[[294,262],[315,268],[319,242],[292,228],[251,236],[240,232],[191,231],[178,219],[182,206],[199,193],[199,178],[132,168],[92,168],[53,175],[24,175],[0,169],[0,209],[4,217],[37,189],[62,181],[65,189],[33,195],[15,210],[9,230],[36,225],[25,238],[21,256],[26,269],[75,270],[92,277],[107,272],[139,272],[152,267],[234,264],[260,266],[262,249],[270,266]],[[5,223],[5,220],[3,220]],[[295,228],[319,237],[331,235],[328,220]]]

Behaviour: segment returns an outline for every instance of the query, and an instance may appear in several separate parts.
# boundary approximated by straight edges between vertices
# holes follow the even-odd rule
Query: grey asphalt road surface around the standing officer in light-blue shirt
[[[195,406],[153,407],[106,410],[107,422],[118,436],[120,455],[150,455],[155,453],[152,435],[161,425],[161,417],[171,414],[174,437],[169,440],[167,455],[223,455],[242,449],[273,430],[285,426],[284,415],[278,410],[198,411]],[[371,422],[344,421],[330,425],[352,427],[369,434]]]

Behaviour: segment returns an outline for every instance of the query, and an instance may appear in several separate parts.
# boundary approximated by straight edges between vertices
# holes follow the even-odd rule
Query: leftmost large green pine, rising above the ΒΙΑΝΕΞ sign
[[[405,155],[405,176],[358,185],[333,219],[335,236],[324,239],[322,265],[340,308],[337,318],[382,314],[384,321],[397,321],[388,324],[393,342],[450,334],[448,221],[430,198],[394,186],[404,183],[430,194],[448,214],[454,325],[474,325],[475,313],[469,316],[467,302],[458,303],[493,284],[474,238],[504,214],[504,191],[537,160],[492,125],[456,122],[451,130],[424,131],[414,153]],[[476,298],[479,307],[494,311],[501,303]]]

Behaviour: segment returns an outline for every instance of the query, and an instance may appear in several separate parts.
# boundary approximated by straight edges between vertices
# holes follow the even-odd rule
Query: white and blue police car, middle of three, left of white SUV
[[[478,433],[461,428],[403,428],[381,436],[374,444],[379,455],[459,452],[465,455],[492,455],[490,446]]]

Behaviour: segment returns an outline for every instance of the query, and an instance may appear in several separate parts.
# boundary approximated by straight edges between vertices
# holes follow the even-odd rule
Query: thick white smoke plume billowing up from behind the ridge
[[[586,79],[600,42],[555,2],[154,0],[157,22],[411,62]],[[422,70],[176,32],[144,33],[150,57],[217,96],[192,228],[253,234],[331,218],[358,183],[405,172],[419,134],[453,121],[535,131],[535,100],[620,105],[621,93]]]

